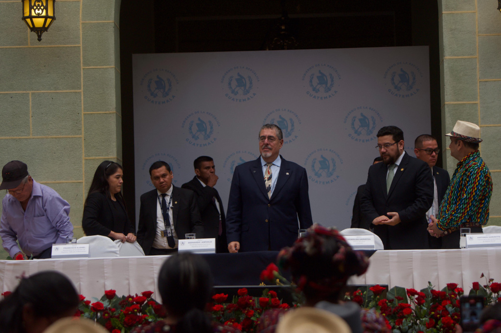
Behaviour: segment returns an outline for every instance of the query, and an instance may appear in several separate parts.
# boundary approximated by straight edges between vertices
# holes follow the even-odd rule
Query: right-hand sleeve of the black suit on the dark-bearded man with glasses
[[[433,177],[426,163],[419,163],[416,171],[414,202],[403,210],[398,211],[402,223],[413,222],[424,217],[433,203]],[[407,195],[411,195],[410,193]]]

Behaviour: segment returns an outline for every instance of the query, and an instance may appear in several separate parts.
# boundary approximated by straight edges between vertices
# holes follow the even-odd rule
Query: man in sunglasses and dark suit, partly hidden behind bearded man
[[[428,222],[431,222],[431,215],[436,216],[438,213],[438,207],[440,206],[440,202],[442,202],[443,195],[450,181],[449,172],[435,165],[439,152],[440,149],[438,149],[437,140],[431,135],[421,134],[414,140],[414,153],[416,157],[428,164],[433,176],[433,203],[426,212],[426,220]],[[430,248],[442,248],[442,238],[428,234],[428,241]]]

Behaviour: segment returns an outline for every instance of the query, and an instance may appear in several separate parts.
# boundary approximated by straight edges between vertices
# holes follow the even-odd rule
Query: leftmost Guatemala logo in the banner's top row
[[[179,84],[176,75],[168,69],[155,68],[141,78],[141,93],[149,103],[165,104],[175,98],[174,91]]]

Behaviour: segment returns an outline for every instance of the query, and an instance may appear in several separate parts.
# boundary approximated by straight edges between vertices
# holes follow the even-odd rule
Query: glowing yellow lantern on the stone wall
[[[23,2],[23,20],[30,30],[42,40],[42,33],[49,29],[56,19],[54,15],[54,2],[56,0],[21,0]]]

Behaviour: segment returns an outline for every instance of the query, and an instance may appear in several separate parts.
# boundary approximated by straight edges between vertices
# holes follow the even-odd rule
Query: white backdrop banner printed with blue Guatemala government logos
[[[134,54],[136,213],[154,161],[181,186],[200,155],[226,208],[235,166],[259,157],[259,129],[275,123],[282,156],[308,173],[313,221],[349,227],[379,128],[402,128],[411,156],[430,133],[428,68],[427,46]]]

